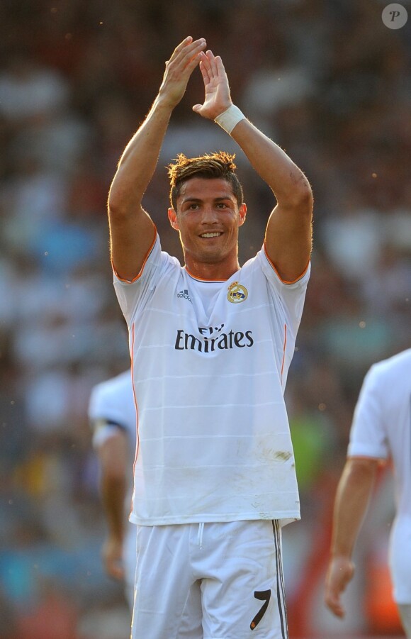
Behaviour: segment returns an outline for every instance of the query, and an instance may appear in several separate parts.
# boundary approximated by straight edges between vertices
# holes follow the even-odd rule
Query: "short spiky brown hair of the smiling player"
[[[235,174],[237,168],[234,163],[235,155],[230,155],[225,151],[216,153],[206,153],[198,157],[186,157],[184,153],[179,153],[175,162],[171,162],[167,167],[170,179],[170,204],[176,211],[177,198],[179,197],[182,185],[193,177],[203,177],[204,179],[221,178],[225,179],[232,188],[232,192],[237,200],[238,206],[242,205],[243,195],[240,180]]]

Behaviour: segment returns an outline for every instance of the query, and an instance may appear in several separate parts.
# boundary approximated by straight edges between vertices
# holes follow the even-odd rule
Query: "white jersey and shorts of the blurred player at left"
[[[127,475],[128,491],[125,496],[125,515],[129,515],[133,493],[133,462],[136,440],[136,413],[131,383],[130,369],[116,377],[96,384],[91,391],[89,401],[89,419],[94,429],[94,448],[101,446],[120,428],[128,438],[129,460]],[[125,569],[125,588],[128,602],[133,609],[133,589],[135,577],[135,526],[127,523],[123,545],[123,563]]]

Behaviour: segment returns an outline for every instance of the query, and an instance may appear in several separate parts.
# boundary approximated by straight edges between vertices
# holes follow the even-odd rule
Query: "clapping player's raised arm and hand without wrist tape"
[[[108,195],[111,260],[119,277],[134,279],[154,240],[154,224],[142,197],[154,173],[174,107],[186,91],[205,40],[191,37],[176,47],[150,112],[125,148]]]

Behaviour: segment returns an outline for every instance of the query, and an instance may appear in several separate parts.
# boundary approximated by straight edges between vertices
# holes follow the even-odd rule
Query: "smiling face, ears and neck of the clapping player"
[[[245,204],[238,206],[230,182],[188,179],[181,186],[176,209],[169,209],[169,220],[180,233],[188,270],[198,277],[230,277],[239,267],[238,228],[247,212]]]

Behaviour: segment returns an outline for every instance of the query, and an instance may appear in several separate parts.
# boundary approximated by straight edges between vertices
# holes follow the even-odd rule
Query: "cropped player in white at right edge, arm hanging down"
[[[334,505],[325,603],[344,616],[342,592],[354,575],[352,553],[376,469],[392,457],[397,514],[390,535],[393,599],[411,639],[411,349],[371,367],[354,412],[348,459]]]

